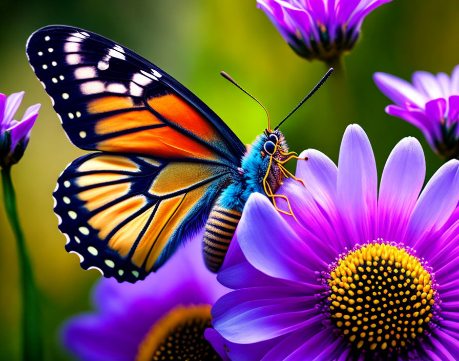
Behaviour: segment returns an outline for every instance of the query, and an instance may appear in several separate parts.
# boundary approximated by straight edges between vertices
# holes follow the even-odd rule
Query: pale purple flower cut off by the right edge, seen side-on
[[[386,73],[374,73],[373,79],[395,103],[386,107],[387,114],[421,129],[432,149],[442,157],[459,156],[459,65],[451,77],[416,71],[412,84]]]

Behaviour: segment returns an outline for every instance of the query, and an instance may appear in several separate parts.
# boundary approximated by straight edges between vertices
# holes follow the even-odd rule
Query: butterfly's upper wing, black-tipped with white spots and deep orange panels
[[[128,48],[89,31],[48,26],[31,35],[27,55],[76,146],[239,164],[245,147],[224,122]]]

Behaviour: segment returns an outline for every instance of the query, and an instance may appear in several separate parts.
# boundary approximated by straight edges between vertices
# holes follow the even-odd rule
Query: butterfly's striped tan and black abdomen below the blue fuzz
[[[223,264],[229,243],[233,238],[241,213],[218,205],[212,208],[205,225],[202,253],[205,265],[217,272]]]

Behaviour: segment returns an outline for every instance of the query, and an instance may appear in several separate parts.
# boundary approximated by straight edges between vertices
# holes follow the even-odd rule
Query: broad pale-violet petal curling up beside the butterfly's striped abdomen
[[[317,283],[315,271],[322,264],[266,196],[249,197],[236,234],[248,262],[258,270],[272,277]]]

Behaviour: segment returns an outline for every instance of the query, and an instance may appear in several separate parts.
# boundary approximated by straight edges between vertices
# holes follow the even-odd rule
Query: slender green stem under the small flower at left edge
[[[32,266],[27,254],[24,234],[20,228],[16,209],[16,196],[13,182],[11,181],[11,167],[2,168],[3,193],[5,196],[5,209],[16,237],[17,253],[19,257],[19,269],[22,290],[22,352],[23,360],[43,359],[43,347],[41,344],[40,314],[38,309],[38,297],[33,278]]]

